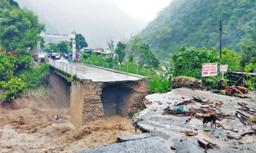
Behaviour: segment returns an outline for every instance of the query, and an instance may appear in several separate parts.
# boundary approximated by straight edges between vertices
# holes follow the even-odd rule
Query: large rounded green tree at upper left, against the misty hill
[[[39,23],[38,17],[32,11],[13,7],[0,11],[0,14],[0,44],[7,51],[34,48],[38,39],[43,41],[37,33],[44,30],[45,26]]]

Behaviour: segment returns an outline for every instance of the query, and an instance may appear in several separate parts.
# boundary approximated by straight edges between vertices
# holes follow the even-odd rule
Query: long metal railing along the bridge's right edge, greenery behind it
[[[115,63],[106,63],[106,62],[100,62],[100,61],[93,61],[89,59],[82,59],[81,63],[87,64],[87,65],[94,65],[106,69],[112,69],[119,72],[124,72],[124,74],[137,74],[140,76],[149,76],[150,75],[150,69],[147,68],[139,68],[135,66],[128,66],[128,65],[119,65]]]

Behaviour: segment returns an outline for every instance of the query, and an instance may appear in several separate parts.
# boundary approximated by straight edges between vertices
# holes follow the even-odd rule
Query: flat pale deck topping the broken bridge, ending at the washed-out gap
[[[49,63],[51,66],[67,72],[68,74],[76,74],[76,77],[80,79],[91,79],[95,82],[133,81],[144,77],[128,76],[96,67],[82,65],[80,63],[69,63],[62,59],[55,61],[50,60]]]

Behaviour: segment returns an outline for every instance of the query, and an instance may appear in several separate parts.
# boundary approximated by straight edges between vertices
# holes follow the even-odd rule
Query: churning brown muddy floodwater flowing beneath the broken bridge
[[[31,96],[0,109],[0,153],[73,153],[113,144],[135,133],[132,120],[113,116],[80,129],[70,123],[70,109],[50,109]],[[54,119],[58,114],[59,120]],[[137,132],[138,133],[138,132]]]

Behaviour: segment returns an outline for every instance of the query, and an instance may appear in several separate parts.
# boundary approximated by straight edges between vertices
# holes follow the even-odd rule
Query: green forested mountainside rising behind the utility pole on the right
[[[164,60],[182,45],[219,48],[220,20],[223,47],[239,52],[241,40],[256,31],[256,0],[173,0],[140,36]]]

